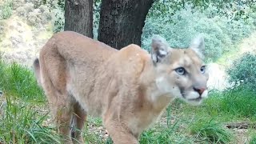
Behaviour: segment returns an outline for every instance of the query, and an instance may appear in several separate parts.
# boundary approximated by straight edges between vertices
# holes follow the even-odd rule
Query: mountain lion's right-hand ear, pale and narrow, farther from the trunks
[[[199,35],[194,38],[190,43],[190,49],[194,50],[200,58],[204,58],[205,55],[205,40]]]

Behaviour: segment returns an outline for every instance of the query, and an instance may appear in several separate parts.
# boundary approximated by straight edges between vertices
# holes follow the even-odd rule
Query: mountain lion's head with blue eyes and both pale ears
[[[200,104],[208,94],[204,50],[204,39],[200,36],[192,40],[189,48],[175,49],[164,38],[154,35],[151,58],[158,75],[158,89],[190,104]]]

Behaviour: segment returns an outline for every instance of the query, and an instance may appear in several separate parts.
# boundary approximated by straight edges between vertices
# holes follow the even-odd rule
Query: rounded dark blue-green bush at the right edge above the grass
[[[227,73],[230,75],[230,82],[234,82],[236,86],[242,84],[250,90],[256,90],[256,55],[243,54],[234,61]]]

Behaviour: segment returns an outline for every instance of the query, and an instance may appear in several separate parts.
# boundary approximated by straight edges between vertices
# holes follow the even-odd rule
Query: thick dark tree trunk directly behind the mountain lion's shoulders
[[[142,28],[154,0],[102,0],[98,40],[118,50],[141,46]]]

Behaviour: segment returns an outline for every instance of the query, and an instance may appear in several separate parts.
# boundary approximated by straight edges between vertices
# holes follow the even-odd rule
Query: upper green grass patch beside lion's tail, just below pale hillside
[[[14,97],[27,101],[44,102],[45,97],[42,89],[34,77],[34,73],[14,62],[7,65],[0,58],[0,89]]]

